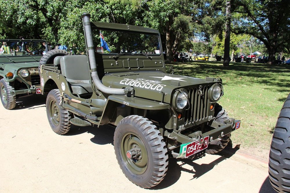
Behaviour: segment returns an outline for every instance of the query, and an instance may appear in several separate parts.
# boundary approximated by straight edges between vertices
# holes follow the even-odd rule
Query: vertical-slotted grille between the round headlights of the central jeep
[[[203,86],[201,89],[191,88],[188,89],[190,108],[185,112],[186,123],[197,125],[205,120],[208,121],[208,110],[209,110],[209,98],[208,90],[209,86]],[[202,95],[200,91],[202,91]]]

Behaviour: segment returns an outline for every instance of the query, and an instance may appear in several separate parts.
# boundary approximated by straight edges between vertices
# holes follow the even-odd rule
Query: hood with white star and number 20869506
[[[166,74],[163,72],[123,72],[105,75],[102,82],[112,88],[134,88],[134,96],[150,100],[170,103],[171,95],[175,89],[197,87],[199,85],[212,85],[216,81],[209,81],[188,76]]]

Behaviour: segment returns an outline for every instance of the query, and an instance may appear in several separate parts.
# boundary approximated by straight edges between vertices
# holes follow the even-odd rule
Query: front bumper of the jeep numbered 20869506
[[[186,146],[187,144],[192,143],[193,141],[196,141],[200,139],[202,141],[202,138],[209,136],[209,142],[221,138],[224,135],[227,135],[231,133],[232,131],[240,128],[240,120],[235,120],[233,118],[230,118],[224,123],[219,123],[217,121],[213,121],[211,124],[211,127],[213,127],[212,130],[209,130],[206,133],[201,132],[194,132],[189,135],[182,135],[181,133],[176,132],[176,130],[173,130],[171,133],[169,133],[167,130],[164,132],[164,136],[168,137],[169,139],[175,140],[176,145],[168,147],[169,150],[173,150],[180,146],[180,153],[178,157],[185,157],[186,153]],[[181,145],[177,145],[178,143],[181,143]]]

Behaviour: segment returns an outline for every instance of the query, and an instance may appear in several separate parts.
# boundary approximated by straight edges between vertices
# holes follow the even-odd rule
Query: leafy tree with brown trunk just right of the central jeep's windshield
[[[193,34],[193,1],[152,0],[141,6],[144,10],[148,8],[148,27],[158,29],[161,35],[165,36],[166,58],[171,61],[182,41]]]

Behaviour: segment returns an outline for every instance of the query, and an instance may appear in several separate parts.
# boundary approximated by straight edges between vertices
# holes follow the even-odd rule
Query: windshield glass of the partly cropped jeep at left
[[[46,42],[31,42],[31,41],[7,41],[0,42],[1,54],[11,54],[11,55],[43,55],[47,49]]]

